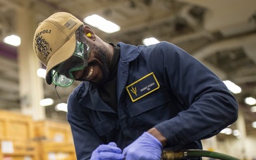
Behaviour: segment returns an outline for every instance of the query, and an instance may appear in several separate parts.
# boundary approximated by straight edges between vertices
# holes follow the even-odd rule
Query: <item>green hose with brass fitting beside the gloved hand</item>
[[[188,149],[185,151],[170,151],[166,150],[162,152],[161,160],[174,160],[174,159],[186,159],[186,158],[196,158],[196,157],[210,157],[214,159],[222,160],[240,160],[233,156],[227,154],[220,154],[215,151],[205,151],[201,149]]]

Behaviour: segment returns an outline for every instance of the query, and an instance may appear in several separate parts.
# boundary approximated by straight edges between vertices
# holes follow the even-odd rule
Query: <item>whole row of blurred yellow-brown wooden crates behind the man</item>
[[[75,160],[68,122],[33,121],[29,115],[0,110],[0,159]]]

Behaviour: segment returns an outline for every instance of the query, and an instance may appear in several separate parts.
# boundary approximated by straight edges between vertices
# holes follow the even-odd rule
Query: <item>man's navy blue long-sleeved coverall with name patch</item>
[[[201,139],[238,118],[238,104],[222,80],[181,48],[167,42],[117,46],[117,112],[90,82],[69,97],[67,118],[79,160],[90,159],[100,144],[124,149],[152,127],[166,137],[166,148],[202,149]]]

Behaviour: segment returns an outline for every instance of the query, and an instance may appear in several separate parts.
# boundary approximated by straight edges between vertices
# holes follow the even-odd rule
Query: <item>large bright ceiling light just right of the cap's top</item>
[[[90,24],[90,26],[94,26],[105,33],[114,33],[120,30],[120,26],[113,23],[112,21],[107,21],[107,19],[93,14],[92,16],[87,16],[83,19],[85,23]]]

